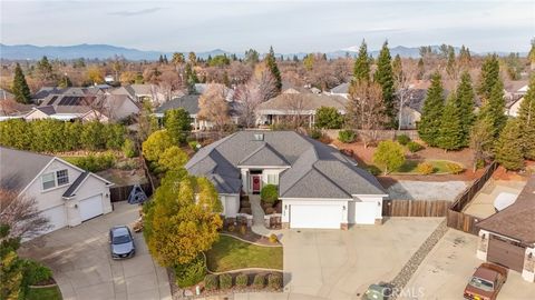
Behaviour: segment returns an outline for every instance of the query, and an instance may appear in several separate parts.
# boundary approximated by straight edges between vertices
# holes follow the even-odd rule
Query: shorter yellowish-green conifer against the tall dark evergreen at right
[[[502,83],[502,80],[498,79],[494,84],[490,94],[480,109],[479,118],[489,120],[493,124],[493,136],[497,138],[507,121],[505,116],[504,83]]]

